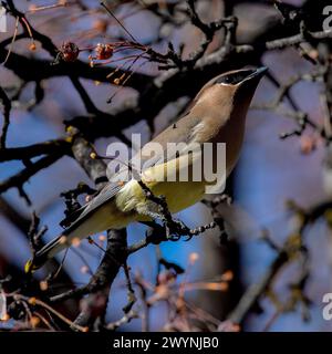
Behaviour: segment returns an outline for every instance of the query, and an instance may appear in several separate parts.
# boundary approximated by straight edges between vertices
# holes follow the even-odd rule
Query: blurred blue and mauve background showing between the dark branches
[[[80,49],[86,49],[80,53],[82,62],[89,62],[89,55],[96,43],[114,42],[127,37],[118,23],[103,11],[97,1],[15,0],[13,2],[19,11],[25,13],[33,29],[50,38],[56,48],[70,41]],[[313,7],[313,1],[299,0],[284,1],[284,3],[294,7],[291,9],[308,10]],[[317,1],[314,3],[319,3],[315,6],[315,11],[320,17],[315,17],[313,28],[310,30],[322,31],[319,19],[325,4]],[[200,45],[201,31],[190,23],[184,10],[187,1],[110,0],[107,6],[139,43],[151,45],[157,52],[166,53],[168,42],[172,42],[176,51],[183,48],[183,58],[188,58],[189,53],[195,52]],[[284,21],[280,9],[273,7],[272,1],[199,0],[195,6],[199,17],[206,23],[226,15],[236,15],[238,45],[264,43],[299,32],[297,25]],[[15,18],[8,15],[8,32],[0,33],[0,51],[3,50],[1,42],[11,38],[14,31]],[[225,32],[221,30],[214,37],[205,55],[208,56],[218,51],[224,41]],[[29,60],[39,59],[50,62],[54,60],[41,48],[38,40],[34,41],[33,50],[31,50],[31,38],[18,39],[12,44],[9,43],[6,43],[7,50],[11,45],[12,53]],[[324,82],[329,73],[319,75],[319,80],[305,80],[305,75],[323,66],[320,59],[322,55],[326,56],[324,51],[329,49],[329,44],[328,40],[323,43],[310,43],[309,54],[313,58],[312,60],[301,55],[297,46],[263,50],[259,58],[253,59],[252,54],[248,54],[248,64],[264,64],[269,67],[270,76],[263,79],[257,90],[247,117],[241,157],[228,180],[227,192],[234,199],[230,206],[222,207],[228,241],[220,244],[220,231],[215,229],[195,237],[189,242],[183,240],[164,242],[159,248],[149,246],[134,253],[128,259],[128,266],[133,274],[138,274],[141,280],[151,284],[151,288],[147,287],[147,292],[154,293],[152,289],[156,277],[160,277],[157,266],[162,254],[168,262],[174,262],[185,270],[185,274],[177,274],[174,282],[169,284],[172,291],[177,291],[178,287],[185,282],[196,284],[196,287],[188,287],[186,291],[185,299],[188,304],[195,311],[203,312],[201,322],[210,322],[214,325],[225,324],[248,287],[259,283],[273,263],[278,250],[276,251],[270,243],[281,248],[293,232],[298,219],[287,202],[292,200],[307,210],[329,198],[329,178],[326,177],[329,145],[320,131],[320,127],[324,127],[324,116],[326,110],[329,111],[329,104],[322,98],[324,96],[322,93],[329,90]],[[14,69],[15,63],[10,55],[0,66],[0,85],[10,97],[12,105],[7,135],[8,148],[25,147],[56,139],[65,135],[63,121],[89,116],[82,97],[73,88],[68,75],[50,75],[40,82],[24,81],[25,67]],[[329,60],[328,55],[328,62]],[[314,61],[319,63],[315,64]],[[1,62],[4,62],[4,54],[1,56]],[[246,56],[238,63],[234,62],[232,65],[241,67],[243,64],[246,64]],[[115,65],[101,63],[103,69],[110,67],[110,72],[112,67],[116,67]],[[158,66],[158,63],[147,61],[143,66],[137,67],[137,72],[153,80],[165,73],[160,73]],[[217,74],[216,70],[215,73]],[[33,77],[34,73],[30,75]],[[195,76],[195,73],[193,75]],[[204,73],[200,75],[204,77]],[[280,138],[280,134],[292,132],[298,127],[292,116],[283,114],[288,110],[294,111],[294,106],[286,95],[278,105],[283,111],[276,107],[268,110],[267,105],[273,103],[280,87],[297,75],[302,76],[294,81],[287,94],[291,96],[297,110],[308,114],[318,128],[309,125],[299,134]],[[206,80],[199,80],[208,81],[209,79],[210,73],[207,74]],[[137,95],[141,94],[139,91],[131,87],[131,81],[127,87],[122,90],[106,80],[101,82],[82,76],[80,82],[94,105],[102,112],[117,112],[125,105],[135,103]],[[37,95],[38,85],[42,86],[41,100],[38,100]],[[112,104],[107,104],[107,98],[114,93],[116,95]],[[132,133],[138,132],[143,134],[145,142],[148,142],[152,134],[160,132],[180,114],[191,97],[190,92],[188,95],[180,95],[177,100],[169,100],[169,103],[153,119],[154,132],[151,131],[151,124],[147,124],[145,117],[142,117],[143,119],[138,123],[134,122],[126,127],[123,134],[129,137]],[[114,139],[115,137],[111,134],[108,137],[96,138],[93,142],[96,152],[104,156],[107,145]],[[31,162],[34,163],[38,158],[33,157]],[[25,167],[23,159],[1,160],[0,180],[7,180]],[[24,194],[29,196],[31,205],[28,205],[18,188],[10,188],[1,194],[0,277],[2,279],[8,274],[14,274],[13,277],[19,279],[27,259],[31,256],[27,239],[31,212],[35,211],[41,219],[41,225],[48,226],[43,241],[51,240],[61,232],[59,222],[64,217],[65,205],[60,195],[75,188],[80,181],[93,187],[93,183],[77,162],[70,156],[63,156],[24,183]],[[240,327],[234,326],[232,330],[330,331],[332,329],[332,322],[325,321],[322,316],[324,306],[322,296],[324,293],[332,292],[332,244],[329,222],[326,223],[328,214],[329,209],[324,211],[323,218],[315,220],[303,231],[303,242],[309,250],[309,259],[305,261],[305,284],[301,289],[305,299],[293,301],[294,298],[292,298],[292,284],[302,279],[304,266],[301,260],[286,263],[271,282],[273,294],[270,287],[263,291],[259,302],[255,303],[241,321]],[[189,227],[197,227],[210,222],[211,212],[207,206],[198,204],[180,212],[178,218]],[[146,228],[142,225],[132,225],[128,228],[128,242],[133,243],[143,238],[145,230]],[[105,235],[93,237],[103,248],[106,246]],[[269,241],[266,240],[267,237]],[[62,253],[58,257],[59,262],[62,261],[63,256]],[[103,252],[87,241],[82,242],[74,250],[71,249],[65,257],[62,270],[68,274],[70,287],[87,283],[102,257]],[[34,277],[42,281],[46,275],[48,270],[40,270]],[[216,279],[219,281],[220,277],[226,281],[222,282],[222,287],[220,283],[217,287]],[[53,285],[50,284],[49,289],[53,294],[69,287],[60,283]],[[139,293],[139,289],[136,291]],[[106,311],[107,323],[123,316],[122,308],[126,302],[126,280],[121,270],[112,285]],[[74,300],[58,305],[59,311],[66,313],[71,319],[77,314],[80,302]],[[151,306],[149,330],[169,329],[168,314],[169,308],[165,301],[158,301]],[[0,327],[15,325],[14,319],[0,323]],[[196,327],[193,325],[187,329]],[[207,330],[201,324],[197,325],[197,329]],[[134,319],[122,325],[120,330],[141,331],[142,321]]]

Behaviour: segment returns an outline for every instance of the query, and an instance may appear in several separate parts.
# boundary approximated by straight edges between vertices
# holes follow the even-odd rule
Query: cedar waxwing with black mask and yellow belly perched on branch
[[[163,195],[166,198],[170,212],[178,212],[201,200],[209,184],[206,178],[195,179],[193,173],[188,173],[187,180],[177,178],[185,156],[189,155],[190,158],[183,165],[194,165],[196,155],[190,153],[190,146],[204,146],[209,143],[215,147],[217,143],[224,143],[225,176],[234,169],[243,140],[246,115],[256,87],[266,71],[267,67],[235,70],[210,80],[196,95],[187,113],[151,142],[162,146],[163,158],[146,158],[143,152],[151,143],[144,145],[132,158],[131,163],[135,157],[141,157],[141,181],[153,195]],[[167,149],[169,143],[185,143],[185,147],[175,155],[165,157],[164,149]],[[120,183],[123,174],[131,169],[128,166],[133,166],[131,163],[115,173],[92,200],[61,222],[66,228],[61,236],[35,252],[33,259],[25,264],[27,272],[39,269],[49,258],[70,247],[73,240],[107,229],[121,229],[133,221],[144,222],[158,217],[158,206],[146,198],[137,178],[132,177]],[[167,174],[175,174],[176,178],[160,178],[162,175],[165,176],[165,170]]]

